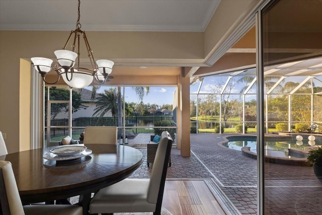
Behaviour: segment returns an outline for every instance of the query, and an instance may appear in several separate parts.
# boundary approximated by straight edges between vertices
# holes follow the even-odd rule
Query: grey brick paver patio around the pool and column
[[[131,177],[149,177],[152,168],[146,165],[145,148],[149,135],[139,134],[129,141],[144,159]],[[180,150],[173,148],[167,179],[211,179],[217,200],[230,204],[232,212],[228,213],[256,214],[257,161],[223,147],[220,143],[229,135],[232,134],[191,134],[191,157],[183,158]],[[265,163],[265,179],[267,213],[322,214],[322,180],[316,179],[311,167]]]

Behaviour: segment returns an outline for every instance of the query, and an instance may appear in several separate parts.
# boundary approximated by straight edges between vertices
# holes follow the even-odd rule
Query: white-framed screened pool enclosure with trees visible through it
[[[321,67],[321,57],[265,67],[266,133],[322,130]],[[257,131],[256,68],[195,77],[191,83],[192,133]]]

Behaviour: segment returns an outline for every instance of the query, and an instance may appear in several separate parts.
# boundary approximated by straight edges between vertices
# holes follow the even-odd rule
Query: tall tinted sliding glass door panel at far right
[[[322,181],[306,162],[322,145],[321,12],[320,0],[271,1],[260,11],[261,213],[322,214]]]

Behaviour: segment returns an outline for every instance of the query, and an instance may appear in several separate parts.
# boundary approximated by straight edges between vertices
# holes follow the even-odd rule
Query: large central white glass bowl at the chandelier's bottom
[[[88,87],[93,82],[93,76],[87,75],[84,73],[73,73],[72,79],[70,80],[71,74],[70,72],[67,73],[67,77],[70,81],[66,79],[66,74],[61,74],[62,79],[65,81],[67,85],[69,85],[72,88],[76,89],[82,89],[85,87]]]

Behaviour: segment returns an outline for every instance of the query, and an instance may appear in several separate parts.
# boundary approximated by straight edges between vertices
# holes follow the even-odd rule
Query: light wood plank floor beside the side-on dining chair
[[[162,206],[173,215],[225,214],[203,180],[167,180]]]

